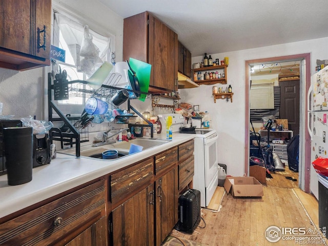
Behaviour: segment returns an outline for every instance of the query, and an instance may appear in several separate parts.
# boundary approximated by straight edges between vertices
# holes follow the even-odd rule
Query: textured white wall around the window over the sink
[[[99,29],[108,30],[114,34],[116,61],[122,60],[122,17],[96,0],[54,0],[53,5],[55,4],[74,10],[86,22],[93,19]],[[37,119],[45,119],[44,84],[49,68],[37,68],[24,72],[0,68],[0,102],[4,103],[3,115],[16,117],[36,115]]]

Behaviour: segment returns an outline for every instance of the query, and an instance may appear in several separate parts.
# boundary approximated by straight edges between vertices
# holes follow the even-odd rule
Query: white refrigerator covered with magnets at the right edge
[[[311,87],[308,92],[308,130],[311,136],[311,172],[310,190],[318,198],[318,176],[312,166],[319,156],[328,158],[328,66],[311,77]]]

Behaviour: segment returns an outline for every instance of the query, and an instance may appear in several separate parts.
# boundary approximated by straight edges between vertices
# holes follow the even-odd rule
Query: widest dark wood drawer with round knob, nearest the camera
[[[104,180],[0,226],[1,245],[62,245],[105,215]],[[70,238],[72,239],[72,238]]]

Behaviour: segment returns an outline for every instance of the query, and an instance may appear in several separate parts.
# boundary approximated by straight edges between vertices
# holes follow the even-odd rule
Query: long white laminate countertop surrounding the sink
[[[57,153],[45,166],[33,168],[32,181],[9,186],[7,175],[0,176],[0,218],[79,185],[126,167],[151,155],[194,138],[193,134],[173,133],[172,141],[117,160],[103,160]],[[75,148],[75,147],[73,147]]]

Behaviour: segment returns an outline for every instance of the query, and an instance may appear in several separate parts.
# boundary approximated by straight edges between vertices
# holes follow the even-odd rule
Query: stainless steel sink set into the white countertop
[[[142,150],[146,150],[149,148],[153,148],[162,144],[166,144],[171,140],[166,139],[149,139],[149,138],[136,138],[130,141],[121,141],[115,142],[113,144],[102,145],[98,147],[92,147],[91,145],[81,146],[80,148],[80,156],[86,156],[91,158],[99,159],[101,153],[106,150],[117,150],[119,157],[124,158],[125,156],[129,155],[129,150],[131,144],[140,145],[144,147]],[[64,150],[58,150],[59,153],[64,154],[75,154],[75,148],[69,148]],[[116,159],[107,159],[107,160],[116,160]]]

